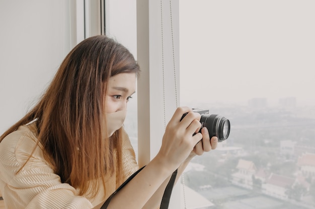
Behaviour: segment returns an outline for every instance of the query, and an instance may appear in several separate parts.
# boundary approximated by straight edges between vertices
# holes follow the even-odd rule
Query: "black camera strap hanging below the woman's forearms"
[[[138,174],[138,172],[140,172],[145,166],[141,167],[139,170],[137,170],[136,172],[134,172],[125,182],[123,182],[117,189],[116,191],[114,191],[114,193],[112,193],[107,200],[104,202],[104,204],[101,206],[101,209],[106,209],[108,207],[109,202],[111,201],[111,199],[114,197],[114,195],[122,188],[124,187],[136,174]],[[161,206],[160,209],[168,209],[169,208],[169,204],[170,204],[170,199],[171,199],[171,194],[172,194],[172,190],[173,190],[173,186],[175,183],[175,179],[177,176],[177,169],[173,172],[171,179],[168,183],[168,185],[165,188],[163,197],[162,197],[162,201],[161,201]]]

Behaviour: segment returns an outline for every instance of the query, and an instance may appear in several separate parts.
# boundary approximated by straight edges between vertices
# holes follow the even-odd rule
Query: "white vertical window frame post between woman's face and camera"
[[[170,17],[172,3],[172,24]],[[166,123],[171,119],[179,95],[179,0],[162,1],[164,85],[162,63],[161,2],[137,0],[138,163],[147,164],[159,151]],[[173,26],[173,30],[171,30]],[[174,76],[172,31],[175,52]],[[171,46],[171,47],[170,47]],[[176,79],[176,83],[175,83]],[[177,90],[175,90],[175,84]],[[163,86],[167,91],[163,90]],[[165,104],[164,104],[165,102]],[[165,110],[164,110],[165,106]],[[180,184],[173,189],[170,208],[180,208]]]

